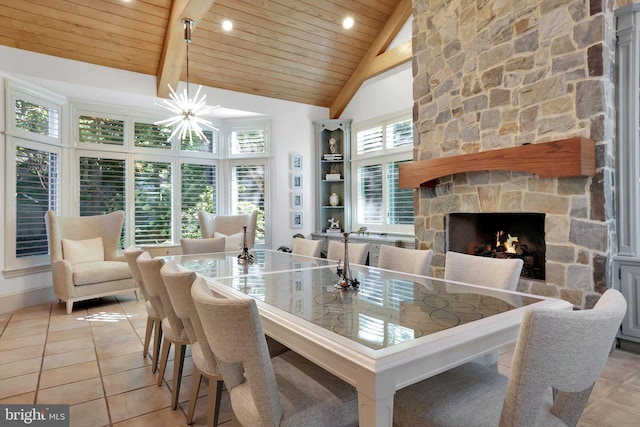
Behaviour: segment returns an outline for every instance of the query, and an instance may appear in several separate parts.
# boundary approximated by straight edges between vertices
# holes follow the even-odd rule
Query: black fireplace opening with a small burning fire
[[[453,213],[447,250],[491,258],[520,258],[521,277],[545,279],[544,214]]]

